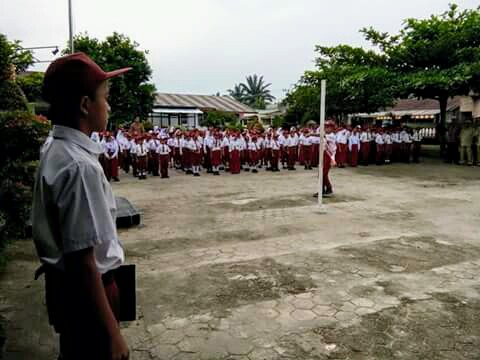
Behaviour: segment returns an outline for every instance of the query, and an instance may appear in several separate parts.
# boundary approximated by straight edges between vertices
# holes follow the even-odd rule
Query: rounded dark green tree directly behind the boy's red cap
[[[152,69],[146,52],[138,49],[138,43],[116,32],[104,41],[80,34],[74,39],[74,47],[76,51],[89,55],[105,71],[132,68],[125,75],[110,81],[112,124],[130,122],[135,116],[146,118],[151,113],[155,100],[155,86],[149,83]]]

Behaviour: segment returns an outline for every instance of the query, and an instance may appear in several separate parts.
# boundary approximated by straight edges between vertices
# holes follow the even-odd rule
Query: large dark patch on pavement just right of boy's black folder
[[[206,311],[226,316],[230,309],[238,306],[298,294],[314,287],[305,270],[270,258],[203,266],[183,274],[162,274],[140,281],[143,288],[149,290],[140,291],[146,318],[155,314],[186,317]]]

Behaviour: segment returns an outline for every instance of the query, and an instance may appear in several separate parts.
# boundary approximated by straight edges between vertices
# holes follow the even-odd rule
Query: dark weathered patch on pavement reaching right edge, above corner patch
[[[462,244],[447,245],[432,237],[401,237],[338,248],[352,262],[390,273],[411,273],[476,259],[480,250]]]

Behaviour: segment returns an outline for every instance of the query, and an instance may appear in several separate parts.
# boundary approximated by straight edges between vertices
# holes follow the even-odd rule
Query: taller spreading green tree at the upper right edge
[[[428,19],[407,19],[397,35],[364,28],[387,65],[399,74],[404,96],[438,100],[440,124],[445,125],[447,101],[478,89],[480,78],[480,7],[448,11]]]

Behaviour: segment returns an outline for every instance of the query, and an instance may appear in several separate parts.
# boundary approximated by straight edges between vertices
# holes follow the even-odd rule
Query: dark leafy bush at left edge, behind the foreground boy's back
[[[42,116],[28,112],[0,112],[0,248],[9,238],[24,235],[30,215],[40,148],[50,129]],[[1,226],[1,225],[0,225]]]

